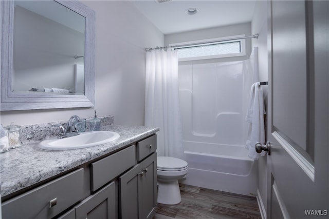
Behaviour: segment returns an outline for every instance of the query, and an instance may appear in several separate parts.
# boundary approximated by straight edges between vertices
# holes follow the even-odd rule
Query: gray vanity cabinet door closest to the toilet
[[[156,153],[149,156],[142,163],[144,175],[140,177],[143,199],[142,218],[152,218],[157,211],[157,174],[156,174]]]

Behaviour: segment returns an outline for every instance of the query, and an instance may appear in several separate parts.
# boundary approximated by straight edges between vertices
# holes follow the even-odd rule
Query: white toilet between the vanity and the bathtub
[[[189,165],[176,157],[158,156],[158,203],[176,205],[180,203],[178,180],[186,176]]]

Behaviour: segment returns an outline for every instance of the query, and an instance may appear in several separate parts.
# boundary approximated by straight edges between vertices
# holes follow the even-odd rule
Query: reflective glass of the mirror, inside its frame
[[[55,1],[15,1],[14,94],[85,94],[85,17]]]

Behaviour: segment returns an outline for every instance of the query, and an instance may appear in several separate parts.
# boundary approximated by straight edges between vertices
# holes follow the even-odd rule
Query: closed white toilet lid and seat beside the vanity
[[[170,156],[158,156],[157,157],[157,169],[166,171],[178,171],[184,170],[188,167],[186,161],[180,160],[176,157]]]

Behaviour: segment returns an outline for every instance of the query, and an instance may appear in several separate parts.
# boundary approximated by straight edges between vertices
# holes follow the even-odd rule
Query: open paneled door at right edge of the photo
[[[273,1],[268,12],[267,218],[328,218],[329,4]]]

